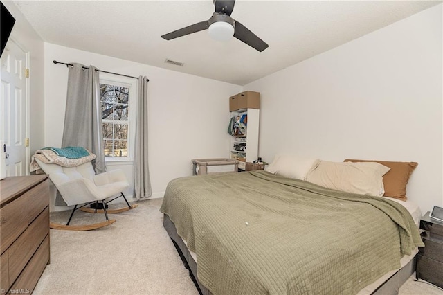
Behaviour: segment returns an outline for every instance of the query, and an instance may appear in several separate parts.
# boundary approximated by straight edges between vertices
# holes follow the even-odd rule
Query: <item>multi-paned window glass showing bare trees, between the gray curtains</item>
[[[129,88],[100,84],[102,130],[106,157],[128,157]]]

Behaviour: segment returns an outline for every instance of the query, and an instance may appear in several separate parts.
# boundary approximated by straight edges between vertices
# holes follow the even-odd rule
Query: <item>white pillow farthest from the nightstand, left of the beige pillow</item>
[[[278,154],[264,170],[284,177],[306,180],[307,174],[320,163],[319,159]]]

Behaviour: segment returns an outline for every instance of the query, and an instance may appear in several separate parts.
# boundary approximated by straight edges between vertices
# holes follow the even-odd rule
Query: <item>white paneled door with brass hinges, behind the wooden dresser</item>
[[[28,55],[9,39],[0,62],[0,141],[6,145],[6,176],[28,175]]]

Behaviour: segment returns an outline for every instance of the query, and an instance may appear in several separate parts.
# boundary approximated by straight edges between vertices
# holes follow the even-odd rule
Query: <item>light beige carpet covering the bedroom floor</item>
[[[103,229],[51,229],[51,264],[33,294],[197,295],[188,270],[163,229],[159,212],[162,200],[139,202],[134,210],[109,215],[117,221]],[[51,213],[51,222],[66,223],[69,214]],[[77,211],[71,224],[104,220],[103,215]],[[442,295],[443,291],[411,277],[399,294]]]

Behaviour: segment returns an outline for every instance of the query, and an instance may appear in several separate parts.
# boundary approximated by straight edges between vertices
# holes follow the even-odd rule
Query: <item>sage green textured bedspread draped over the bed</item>
[[[160,211],[213,294],[356,294],[422,246],[406,209],[265,171],[170,181]]]

